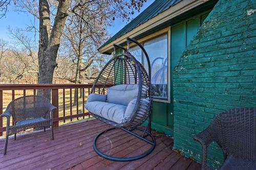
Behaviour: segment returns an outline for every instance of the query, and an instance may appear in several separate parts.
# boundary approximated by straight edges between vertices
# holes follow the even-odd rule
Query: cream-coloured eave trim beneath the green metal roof
[[[103,54],[111,54],[113,51],[113,43],[122,45],[126,42],[126,37],[139,37],[141,34],[150,32],[150,30],[157,28],[160,25],[163,25],[169,20],[172,20],[173,18],[176,18],[177,16],[180,16],[191,9],[195,9],[196,7],[201,6],[202,4],[205,4],[209,0],[185,0],[181,1],[175,6],[170,7],[169,9],[165,10],[164,12],[158,14],[157,16],[153,17],[150,20],[147,20],[146,22],[142,23],[140,26],[134,28],[130,32],[120,36],[119,38],[115,39],[109,44],[106,44],[105,46],[102,46],[98,49],[100,53]]]

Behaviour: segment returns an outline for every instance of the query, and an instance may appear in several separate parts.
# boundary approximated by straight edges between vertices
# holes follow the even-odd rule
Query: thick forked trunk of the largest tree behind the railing
[[[51,30],[50,8],[47,0],[39,0],[39,48],[38,48],[38,84],[52,84],[56,58],[68,16],[70,0],[60,0]],[[42,91],[38,91],[42,95]],[[46,90],[46,97],[51,99],[51,91]]]

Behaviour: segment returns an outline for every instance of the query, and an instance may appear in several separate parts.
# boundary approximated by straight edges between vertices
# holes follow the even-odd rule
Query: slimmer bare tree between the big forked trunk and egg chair
[[[93,69],[95,62],[102,60],[102,55],[97,53],[97,47],[106,39],[105,26],[108,22],[103,23],[102,18],[108,14],[102,6],[93,6],[94,11],[97,11],[94,15],[88,13],[88,8],[92,7],[83,7],[76,13],[71,13],[63,32],[63,49],[68,49],[66,50],[66,54],[69,54],[67,57],[72,58],[76,67],[75,76],[65,77],[65,79],[75,84],[81,84],[85,79],[94,79],[98,74],[99,69]],[[80,89],[80,98],[81,96]],[[74,105],[76,104],[77,91],[75,89]]]

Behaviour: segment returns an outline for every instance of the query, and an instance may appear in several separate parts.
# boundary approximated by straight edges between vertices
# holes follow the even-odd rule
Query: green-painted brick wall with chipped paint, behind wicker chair
[[[181,56],[173,72],[174,149],[201,161],[193,137],[217,114],[234,107],[256,107],[256,9],[253,0],[220,0]],[[208,147],[208,164],[223,155]]]

